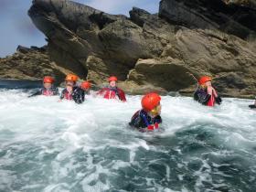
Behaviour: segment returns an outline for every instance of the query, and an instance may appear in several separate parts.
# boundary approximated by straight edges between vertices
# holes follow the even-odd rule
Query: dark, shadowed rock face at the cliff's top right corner
[[[162,0],[159,16],[186,27],[219,29],[248,38],[256,36],[255,4],[253,0]]]

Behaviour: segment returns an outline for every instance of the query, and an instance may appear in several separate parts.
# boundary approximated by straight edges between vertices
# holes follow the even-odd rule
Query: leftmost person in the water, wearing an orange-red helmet
[[[43,88],[40,91],[37,91],[34,94],[30,95],[29,97],[34,97],[37,95],[45,95],[45,96],[58,95],[59,90],[58,88],[54,87],[53,83],[54,83],[54,79],[52,77],[50,76],[44,77]]]

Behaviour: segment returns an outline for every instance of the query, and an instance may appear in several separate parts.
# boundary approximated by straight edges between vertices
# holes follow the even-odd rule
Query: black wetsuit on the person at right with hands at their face
[[[203,104],[203,105],[208,105],[208,101],[210,99],[211,95],[208,94],[208,92],[204,89],[197,89],[197,91],[195,91],[194,93],[194,100],[198,101],[199,103]],[[215,101],[218,104],[221,104],[221,98],[218,96],[215,98]]]

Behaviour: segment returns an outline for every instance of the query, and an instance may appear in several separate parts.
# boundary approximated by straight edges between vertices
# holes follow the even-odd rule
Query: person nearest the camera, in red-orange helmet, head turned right
[[[160,101],[161,97],[157,93],[144,95],[141,101],[142,109],[133,114],[129,125],[141,132],[157,130],[162,123]]]

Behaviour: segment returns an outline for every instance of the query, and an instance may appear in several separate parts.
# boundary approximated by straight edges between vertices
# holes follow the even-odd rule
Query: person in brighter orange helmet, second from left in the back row
[[[60,94],[60,101],[69,100],[80,104],[84,101],[84,91],[76,86],[78,76],[69,74],[66,77],[66,88]]]

